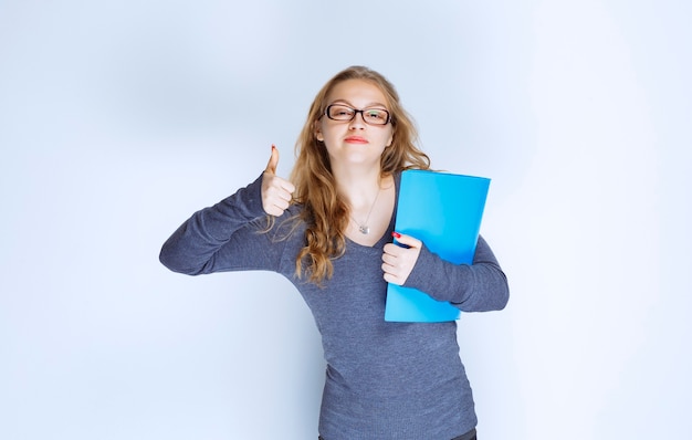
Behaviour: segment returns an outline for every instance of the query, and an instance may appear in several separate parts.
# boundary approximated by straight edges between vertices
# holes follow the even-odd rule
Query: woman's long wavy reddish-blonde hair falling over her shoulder
[[[399,102],[394,85],[378,72],[364,66],[352,66],[337,73],[315,96],[307,119],[295,144],[296,161],[291,172],[295,185],[294,202],[301,203],[301,219],[306,223],[305,247],[296,258],[296,275],[307,275],[321,284],[334,272],[332,260],[344,254],[349,207],[338,197],[332,174],[329,156],[315,136],[315,124],[324,114],[327,96],[337,84],[347,80],[363,80],[376,85],[387,99],[391,115],[394,140],[381,156],[382,177],[405,169],[428,169],[429,157],[416,147],[418,133],[412,118]]]

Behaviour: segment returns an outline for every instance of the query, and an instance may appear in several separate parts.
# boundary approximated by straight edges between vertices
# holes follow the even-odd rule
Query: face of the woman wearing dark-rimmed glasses
[[[385,94],[375,84],[363,80],[338,83],[327,95],[327,105],[339,104],[357,111],[389,109]],[[366,112],[367,113],[367,112]],[[334,121],[326,115],[315,124],[315,137],[324,143],[333,165],[353,164],[379,167],[379,159],[391,145],[394,128],[368,124],[365,114],[352,121]]]

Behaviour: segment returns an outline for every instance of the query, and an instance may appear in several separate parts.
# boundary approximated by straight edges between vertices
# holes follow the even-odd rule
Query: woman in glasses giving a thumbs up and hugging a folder
[[[473,264],[455,265],[394,231],[400,172],[429,167],[415,140],[392,85],[366,67],[346,69],[315,97],[290,180],[275,175],[272,146],[254,182],[196,212],[161,250],[176,272],[269,270],[293,282],[327,362],[324,440],[475,439],[457,323],[384,319],[387,282],[468,312],[501,310],[508,297],[482,238]]]

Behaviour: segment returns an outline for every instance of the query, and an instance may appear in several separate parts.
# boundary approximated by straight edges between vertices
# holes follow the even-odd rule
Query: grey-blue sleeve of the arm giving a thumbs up
[[[262,177],[212,207],[197,211],[164,243],[160,262],[188,275],[272,270],[277,247],[253,223],[265,217]]]

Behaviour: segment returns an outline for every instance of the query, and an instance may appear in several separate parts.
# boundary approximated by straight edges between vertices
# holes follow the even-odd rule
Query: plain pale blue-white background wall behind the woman
[[[0,438],[316,438],[296,291],[158,251],[272,143],[287,175],[350,64],[433,167],[493,179],[512,297],[459,332],[480,438],[692,438],[690,4],[0,1]]]

